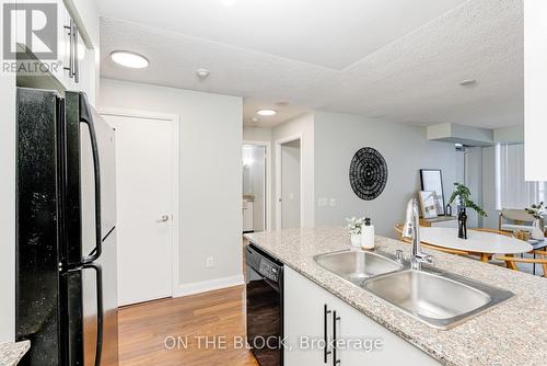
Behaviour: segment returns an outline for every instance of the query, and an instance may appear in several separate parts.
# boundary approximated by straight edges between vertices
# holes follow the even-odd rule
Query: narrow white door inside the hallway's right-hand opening
[[[281,145],[281,228],[300,228],[300,140]]]

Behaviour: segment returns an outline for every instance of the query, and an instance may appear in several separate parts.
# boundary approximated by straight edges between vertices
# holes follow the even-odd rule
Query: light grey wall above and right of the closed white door
[[[179,115],[181,293],[241,281],[242,99],[101,79],[98,105]]]

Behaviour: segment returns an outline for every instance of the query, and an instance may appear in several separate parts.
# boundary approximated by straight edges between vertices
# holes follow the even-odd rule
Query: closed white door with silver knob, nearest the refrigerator
[[[104,118],[116,129],[118,304],[170,297],[175,123]]]

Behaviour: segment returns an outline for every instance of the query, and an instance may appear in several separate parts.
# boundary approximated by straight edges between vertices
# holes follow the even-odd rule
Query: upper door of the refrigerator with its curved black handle
[[[116,225],[115,140],[114,129],[75,92],[66,96],[66,136],[67,258],[78,265],[96,260]]]

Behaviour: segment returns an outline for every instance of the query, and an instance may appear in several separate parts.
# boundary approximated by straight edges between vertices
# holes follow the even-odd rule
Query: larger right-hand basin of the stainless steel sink
[[[439,270],[397,272],[372,278],[364,288],[438,329],[455,327],[513,296]]]

